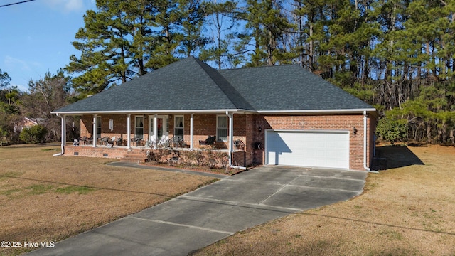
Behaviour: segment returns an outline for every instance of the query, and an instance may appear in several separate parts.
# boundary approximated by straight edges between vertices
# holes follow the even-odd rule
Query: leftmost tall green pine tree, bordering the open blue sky
[[[100,11],[89,10],[85,14],[85,27],[77,31],[78,41],[73,42],[81,56],[72,55],[66,67],[70,73],[80,73],[73,78],[73,87],[82,97],[101,92],[113,83],[126,82],[132,73],[127,64],[130,35],[124,13],[117,1],[102,4],[98,0]]]

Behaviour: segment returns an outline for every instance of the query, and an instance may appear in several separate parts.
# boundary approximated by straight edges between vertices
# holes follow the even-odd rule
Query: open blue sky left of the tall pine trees
[[[0,5],[23,0],[0,0]],[[95,0],[35,0],[0,8],[0,69],[10,85],[28,90],[28,81],[65,68],[80,55],[72,41],[84,26],[83,16]]]

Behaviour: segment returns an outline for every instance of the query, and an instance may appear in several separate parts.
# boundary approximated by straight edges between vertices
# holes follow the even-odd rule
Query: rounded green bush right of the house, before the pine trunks
[[[402,141],[407,136],[407,124],[389,117],[381,118],[376,127],[376,135],[391,143]]]

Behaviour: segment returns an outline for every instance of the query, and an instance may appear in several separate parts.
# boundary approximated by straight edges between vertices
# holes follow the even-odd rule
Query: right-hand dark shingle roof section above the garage
[[[299,65],[219,71],[257,111],[373,108]]]

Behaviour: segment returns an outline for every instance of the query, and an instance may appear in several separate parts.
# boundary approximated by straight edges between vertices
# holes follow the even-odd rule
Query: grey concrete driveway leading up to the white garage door
[[[28,255],[188,255],[237,231],[358,196],[366,176],[257,167]]]

